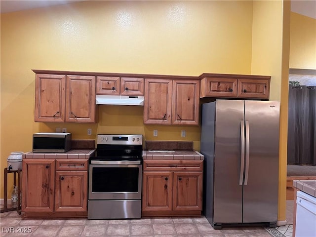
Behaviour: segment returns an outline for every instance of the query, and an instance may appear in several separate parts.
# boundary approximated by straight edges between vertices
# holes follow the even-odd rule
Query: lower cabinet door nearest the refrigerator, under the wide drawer
[[[173,173],[173,210],[202,210],[202,172]]]

